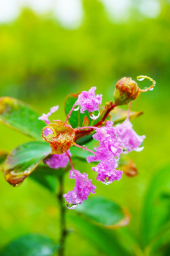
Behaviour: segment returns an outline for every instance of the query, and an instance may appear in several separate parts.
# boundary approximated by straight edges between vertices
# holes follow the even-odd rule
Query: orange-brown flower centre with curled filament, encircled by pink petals
[[[42,129],[42,138],[50,143],[52,154],[63,154],[74,144],[75,132],[70,125],[55,121]]]

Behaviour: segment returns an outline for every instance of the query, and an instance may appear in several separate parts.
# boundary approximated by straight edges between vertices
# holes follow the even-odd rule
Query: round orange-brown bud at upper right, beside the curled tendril
[[[140,95],[140,88],[132,78],[121,78],[115,85],[113,97],[116,105],[128,104]]]

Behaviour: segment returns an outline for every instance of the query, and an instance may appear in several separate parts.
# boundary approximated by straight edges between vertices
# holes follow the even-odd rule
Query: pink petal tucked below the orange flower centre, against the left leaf
[[[72,156],[70,151],[68,150],[67,153],[69,156]],[[47,160],[44,161],[45,164],[48,164],[50,168],[59,169],[64,168],[67,166],[69,158],[66,153],[63,154],[52,154]]]

